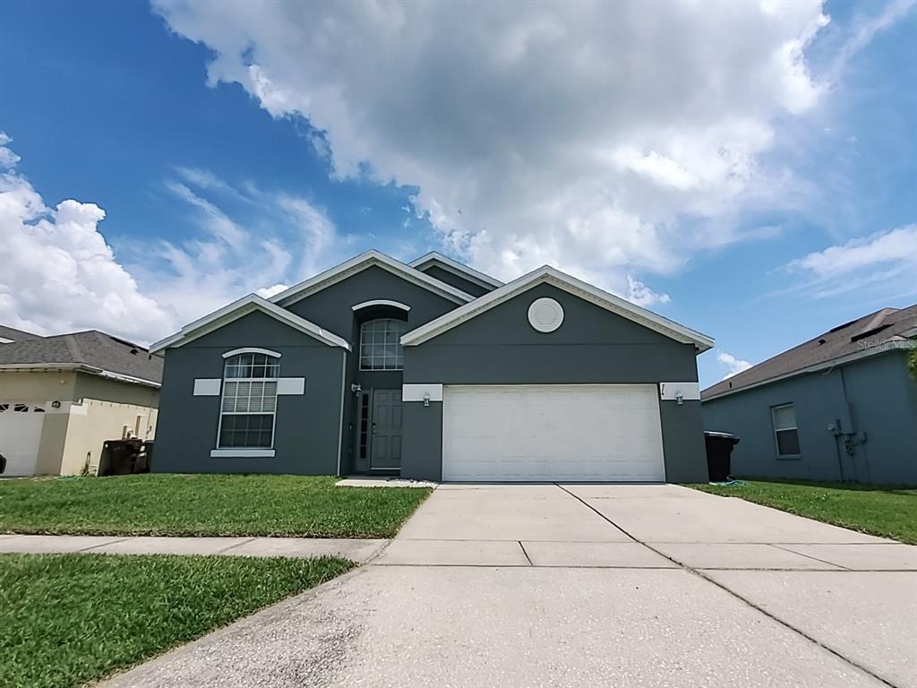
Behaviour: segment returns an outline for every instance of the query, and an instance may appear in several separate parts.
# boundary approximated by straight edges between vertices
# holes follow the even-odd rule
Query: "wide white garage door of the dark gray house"
[[[444,390],[444,481],[665,478],[656,385]]]

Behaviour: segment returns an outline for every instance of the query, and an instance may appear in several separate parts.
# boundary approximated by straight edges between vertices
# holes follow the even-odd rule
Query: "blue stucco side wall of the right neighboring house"
[[[800,456],[778,458],[770,408],[793,404]],[[702,403],[704,427],[741,438],[735,475],[917,484],[917,383],[892,351]],[[853,454],[828,429],[866,433]]]

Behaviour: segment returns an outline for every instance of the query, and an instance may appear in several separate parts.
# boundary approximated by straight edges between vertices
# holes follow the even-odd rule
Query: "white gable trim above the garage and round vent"
[[[582,282],[549,265],[529,272],[511,283],[504,284],[499,289],[494,289],[490,294],[484,294],[470,304],[449,311],[446,315],[437,317],[435,320],[411,330],[403,335],[401,343],[403,346],[423,344],[428,339],[432,339],[448,329],[470,320],[472,317],[480,316],[481,313],[509,301],[514,296],[522,294],[540,283],[556,286],[558,289],[578,296],[591,304],[598,305],[615,315],[632,320],[638,325],[655,330],[668,338],[685,344],[693,344],[697,347],[699,353],[713,348],[713,338],[690,327],[679,325],[674,320],[659,316],[639,305],[632,304],[620,296],[602,291],[598,287]]]

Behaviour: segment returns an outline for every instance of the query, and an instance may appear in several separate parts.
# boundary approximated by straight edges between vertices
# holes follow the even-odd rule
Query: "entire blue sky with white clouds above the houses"
[[[443,250],[713,335],[709,384],[914,303],[917,10],[744,5],[6,3],[0,319],[149,341]]]

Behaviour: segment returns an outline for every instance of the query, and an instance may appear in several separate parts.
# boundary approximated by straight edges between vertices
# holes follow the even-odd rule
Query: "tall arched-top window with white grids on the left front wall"
[[[267,354],[226,359],[217,448],[273,447],[279,376],[280,359]]]

